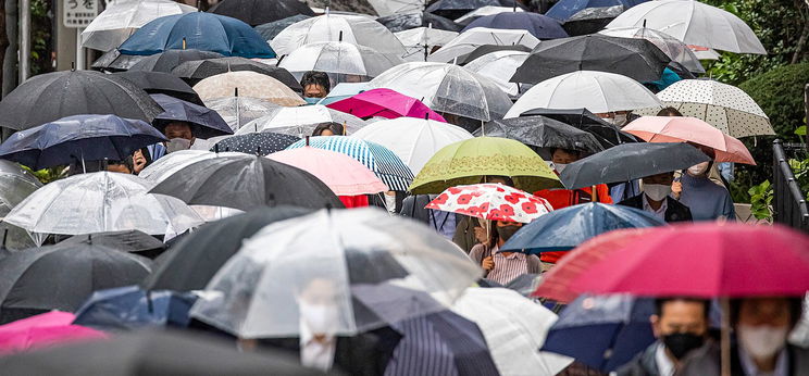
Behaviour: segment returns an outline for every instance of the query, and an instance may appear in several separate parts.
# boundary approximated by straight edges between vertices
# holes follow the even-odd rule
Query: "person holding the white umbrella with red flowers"
[[[505,286],[523,274],[542,272],[542,263],[535,254],[499,251],[522,225],[519,222],[493,221],[489,240],[472,247],[469,256],[481,265],[485,278]]]

